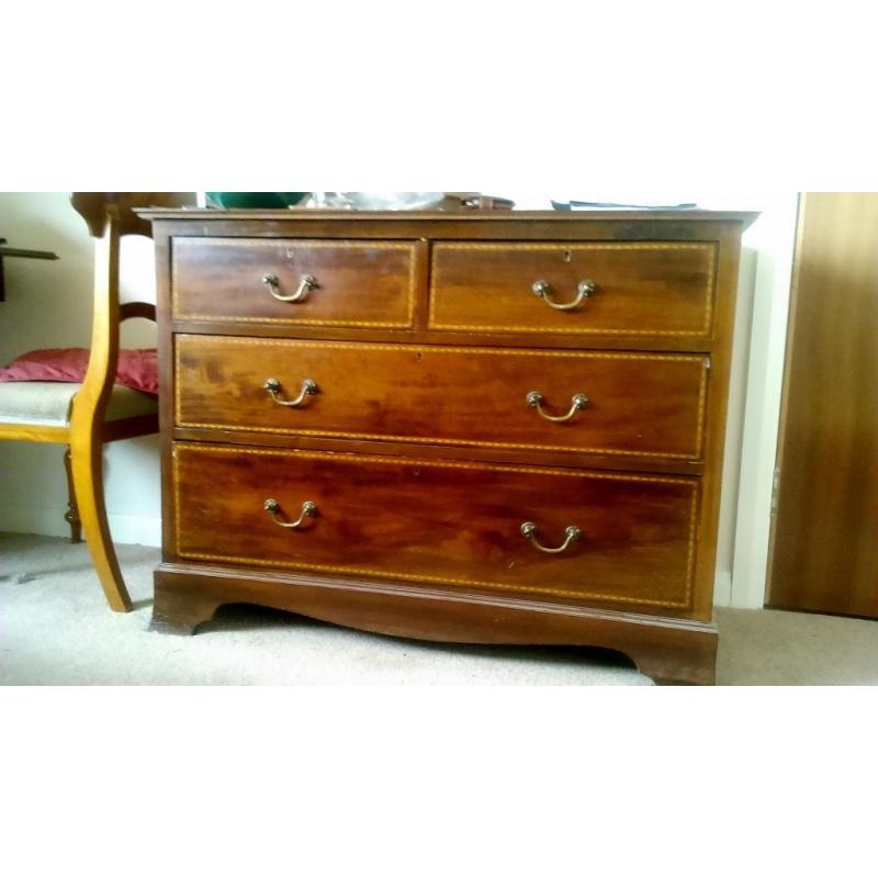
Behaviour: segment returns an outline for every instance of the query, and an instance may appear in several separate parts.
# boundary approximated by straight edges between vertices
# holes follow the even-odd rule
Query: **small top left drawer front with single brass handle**
[[[415,307],[409,241],[175,238],[173,316],[295,326],[405,329]],[[277,278],[275,284],[263,282]],[[303,277],[316,286],[296,302]]]

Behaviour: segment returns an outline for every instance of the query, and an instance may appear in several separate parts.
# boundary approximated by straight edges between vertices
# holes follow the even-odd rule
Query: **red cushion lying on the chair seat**
[[[0,369],[0,381],[72,381],[86,378],[86,348],[32,350]],[[155,348],[121,350],[116,382],[135,391],[158,395],[158,363]]]

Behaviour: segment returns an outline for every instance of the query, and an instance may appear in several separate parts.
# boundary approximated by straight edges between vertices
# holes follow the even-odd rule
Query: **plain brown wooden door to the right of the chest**
[[[878,617],[878,192],[802,195],[767,605]]]

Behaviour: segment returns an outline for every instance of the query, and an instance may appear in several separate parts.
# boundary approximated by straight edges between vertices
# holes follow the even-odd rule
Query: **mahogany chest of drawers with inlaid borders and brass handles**
[[[744,213],[144,211],[164,554],[227,603],[710,683]]]

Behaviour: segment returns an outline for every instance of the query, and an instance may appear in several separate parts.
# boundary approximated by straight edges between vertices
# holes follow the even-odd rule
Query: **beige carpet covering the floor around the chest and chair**
[[[111,612],[85,545],[0,534],[0,684],[650,685],[589,649],[385,638],[225,607],[192,638],[147,631],[158,550],[119,547],[135,610]],[[720,684],[878,684],[878,622],[719,610]]]

